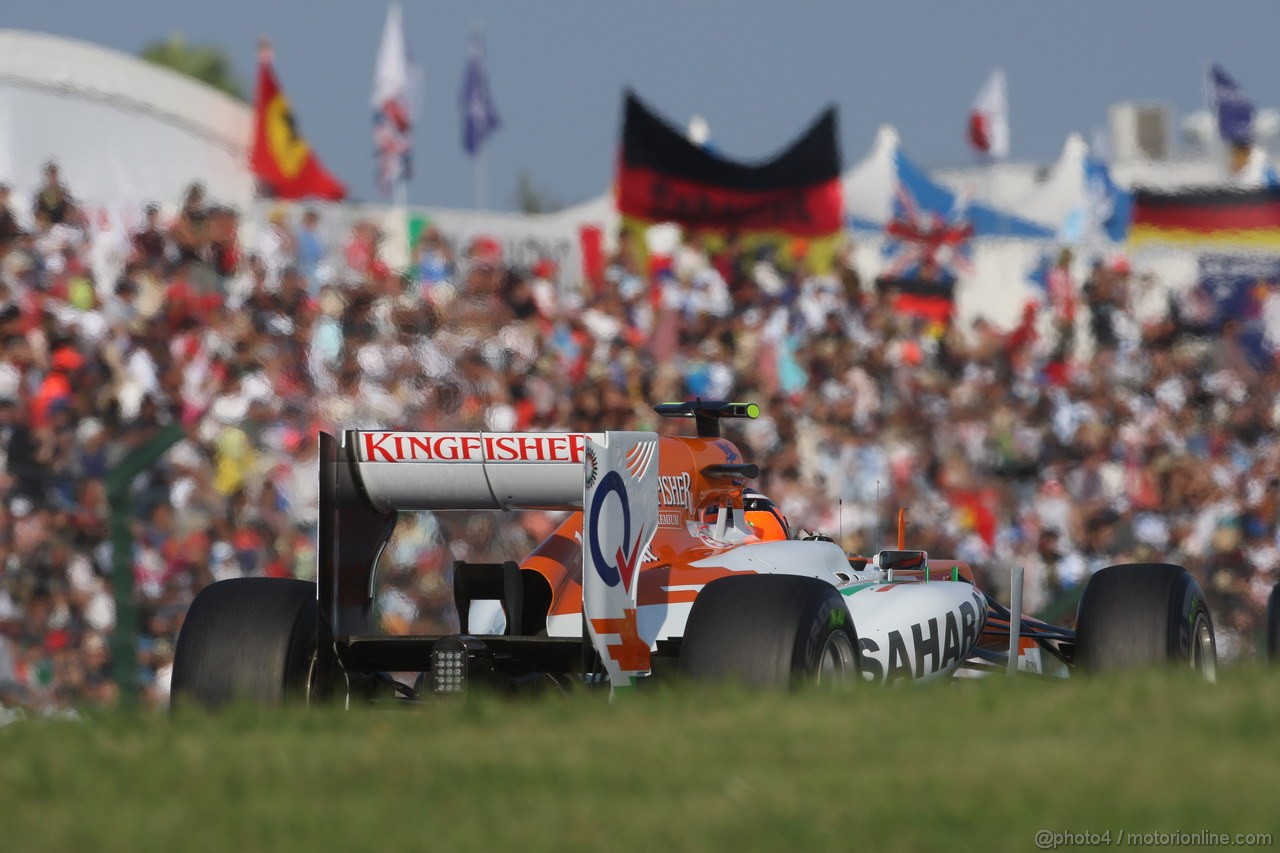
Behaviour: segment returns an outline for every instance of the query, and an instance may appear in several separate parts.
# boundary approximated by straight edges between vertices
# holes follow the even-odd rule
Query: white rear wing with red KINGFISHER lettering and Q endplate
[[[649,669],[634,579],[657,532],[654,433],[321,433],[321,619],[339,639],[376,633],[378,560],[402,510],[584,507],[584,615],[611,681],[623,683]]]

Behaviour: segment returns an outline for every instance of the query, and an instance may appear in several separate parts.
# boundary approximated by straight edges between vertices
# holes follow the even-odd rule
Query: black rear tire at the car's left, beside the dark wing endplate
[[[173,660],[172,703],[279,706],[319,698],[314,671],[316,585],[237,578],[202,589],[187,611]]]

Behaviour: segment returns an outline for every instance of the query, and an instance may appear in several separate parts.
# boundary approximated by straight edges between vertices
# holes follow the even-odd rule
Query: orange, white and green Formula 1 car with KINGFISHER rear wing
[[[1075,629],[1048,625],[1021,615],[1020,569],[1005,607],[964,562],[904,548],[901,523],[899,548],[870,558],[792,533],[721,437],[721,419],[755,418],[755,405],[657,411],[691,418],[696,435],[321,433],[317,583],[201,590],[178,638],[175,701],[616,690],[664,674],[788,686],[1179,665],[1213,678],[1213,624],[1179,566],[1103,569]],[[376,630],[378,558],[398,512],[531,508],[571,512],[518,564],[454,564],[457,634]]]

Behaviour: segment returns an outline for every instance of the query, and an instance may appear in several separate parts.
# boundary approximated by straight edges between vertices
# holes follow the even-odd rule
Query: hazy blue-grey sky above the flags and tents
[[[252,86],[255,41],[275,42],[276,72],[302,129],[353,196],[376,199],[369,95],[385,3],[271,0],[9,0],[0,27],[137,51],[180,31],[224,47]],[[1203,106],[1221,63],[1261,105],[1280,102],[1280,3],[763,3],[704,0],[404,0],[410,49],[424,67],[413,204],[474,204],[458,95],[467,44],[484,23],[502,129],[486,146],[490,206],[509,209],[516,177],[562,202],[609,183],[621,93],[634,86],[684,124],[707,117],[721,151],[759,159],[827,104],[840,106],[845,163],[895,124],[916,161],[969,161],[964,123],[996,65],[1009,76],[1012,156],[1052,160],[1071,131],[1088,138],[1119,100],[1179,114]]]

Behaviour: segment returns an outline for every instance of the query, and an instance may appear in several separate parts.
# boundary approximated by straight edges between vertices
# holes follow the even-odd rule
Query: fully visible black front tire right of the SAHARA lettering
[[[1170,564],[1102,569],[1080,598],[1075,662],[1088,672],[1183,666],[1212,681],[1217,646],[1199,584]]]

